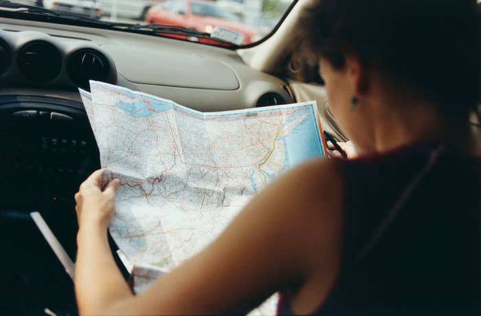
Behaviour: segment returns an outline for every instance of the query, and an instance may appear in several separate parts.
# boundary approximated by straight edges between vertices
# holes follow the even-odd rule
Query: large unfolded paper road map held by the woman
[[[277,175],[324,157],[315,101],[199,112],[120,86],[80,90],[104,181],[120,179],[111,236],[138,293],[212,242]]]

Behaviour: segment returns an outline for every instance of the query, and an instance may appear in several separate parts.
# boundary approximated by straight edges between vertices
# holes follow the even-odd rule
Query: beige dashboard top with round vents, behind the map
[[[294,101],[284,81],[252,69],[230,49],[159,36],[15,19],[0,20],[0,39],[4,51],[10,51],[11,63],[0,73],[0,95],[80,101],[76,91],[80,79],[71,70],[71,64],[76,53],[87,51],[107,67],[103,69],[107,74],[103,81],[172,99],[196,110],[234,110]],[[21,53],[32,42],[47,43],[58,51],[56,58],[61,66],[54,79],[32,80],[21,69],[21,61],[25,60]],[[82,58],[77,56],[80,64],[78,60]],[[41,66],[45,71],[52,69],[45,63]]]

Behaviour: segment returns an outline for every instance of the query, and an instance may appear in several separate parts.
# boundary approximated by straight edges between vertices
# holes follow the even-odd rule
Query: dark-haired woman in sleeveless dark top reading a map
[[[476,1],[324,0],[310,14],[302,48],[359,158],[283,175],[137,296],[107,241],[118,181],[102,192],[96,171],[76,194],[80,314],[240,313],[276,291],[280,313],[480,313]]]

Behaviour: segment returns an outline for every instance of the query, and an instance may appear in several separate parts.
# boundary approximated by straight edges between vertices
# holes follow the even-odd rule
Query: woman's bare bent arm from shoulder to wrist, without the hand
[[[335,214],[341,207],[342,196],[337,194],[341,185],[332,162],[310,162],[289,172],[255,197],[212,245],[137,296],[127,292],[108,258],[103,230],[107,228],[80,228],[76,278],[80,313],[247,311],[279,289],[302,289],[319,271],[333,275],[340,257],[342,219]],[[87,247],[94,243],[99,246]],[[90,276],[87,287],[79,279],[92,270],[95,276]],[[328,289],[333,279],[324,280]]]

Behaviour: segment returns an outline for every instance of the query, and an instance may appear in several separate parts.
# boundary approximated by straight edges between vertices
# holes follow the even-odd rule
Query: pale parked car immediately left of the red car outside
[[[102,6],[103,15],[112,15],[128,18],[139,19],[144,21],[148,9],[154,5],[164,2],[165,0],[98,0]]]

